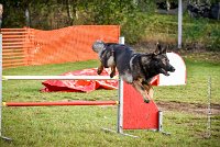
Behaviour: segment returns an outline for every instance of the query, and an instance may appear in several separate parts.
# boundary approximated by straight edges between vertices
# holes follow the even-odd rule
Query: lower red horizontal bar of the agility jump
[[[118,101],[3,102],[3,106],[117,105]]]

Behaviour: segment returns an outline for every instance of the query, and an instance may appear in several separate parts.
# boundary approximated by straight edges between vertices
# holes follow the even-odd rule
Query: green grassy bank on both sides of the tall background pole
[[[178,35],[177,15],[151,14],[147,16],[144,39],[176,44]],[[220,52],[220,23],[209,19],[193,19],[184,14],[183,45]]]

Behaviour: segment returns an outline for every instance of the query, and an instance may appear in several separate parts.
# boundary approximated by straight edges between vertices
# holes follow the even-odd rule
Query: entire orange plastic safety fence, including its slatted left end
[[[118,43],[120,26],[77,25],[53,31],[3,29],[2,34],[3,67],[45,65],[97,59],[92,43],[96,39]]]

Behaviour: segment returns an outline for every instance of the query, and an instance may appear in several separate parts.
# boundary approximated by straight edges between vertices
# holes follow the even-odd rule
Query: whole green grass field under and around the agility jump
[[[144,147],[144,146],[219,146],[220,138],[220,63],[185,56],[187,84],[155,87],[154,100],[164,111],[164,129],[157,132],[125,131],[140,136],[132,138],[106,133],[116,129],[116,106],[50,106],[3,108],[1,147]],[[59,75],[66,71],[97,67],[97,60],[20,67],[3,70],[3,75]],[[211,137],[207,135],[207,81],[211,76]],[[3,101],[117,100],[117,90],[90,93],[42,93],[41,81],[3,81]]]

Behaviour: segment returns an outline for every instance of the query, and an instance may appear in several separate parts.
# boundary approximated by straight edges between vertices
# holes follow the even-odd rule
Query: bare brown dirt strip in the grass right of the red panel
[[[206,104],[195,104],[195,103],[184,103],[184,102],[156,102],[160,110],[162,111],[179,111],[194,114],[208,114],[208,105]],[[211,104],[211,114],[220,115],[220,104]]]

